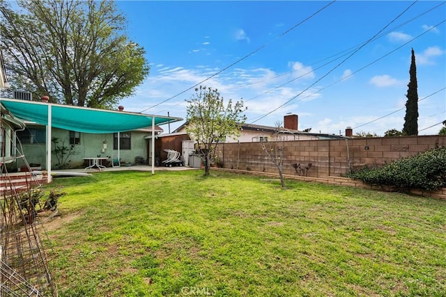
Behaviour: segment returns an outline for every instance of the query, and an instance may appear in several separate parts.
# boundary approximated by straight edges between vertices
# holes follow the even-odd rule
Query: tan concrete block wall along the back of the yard
[[[284,141],[283,145],[284,174],[341,177],[350,168],[382,165],[434,147],[446,146],[446,136]],[[263,152],[261,143],[223,143],[218,145],[216,152],[224,168],[277,173],[277,168]],[[305,170],[309,163],[312,163],[312,167]],[[300,164],[302,170],[296,172],[293,164]]]

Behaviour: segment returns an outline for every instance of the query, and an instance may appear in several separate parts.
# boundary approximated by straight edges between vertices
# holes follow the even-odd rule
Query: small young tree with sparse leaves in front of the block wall
[[[200,86],[187,106],[186,131],[197,142],[197,149],[204,161],[204,175],[209,175],[210,164],[215,161],[215,148],[226,136],[240,135],[240,127],[246,121],[243,114],[243,100],[233,104],[230,99],[226,106],[217,89]]]

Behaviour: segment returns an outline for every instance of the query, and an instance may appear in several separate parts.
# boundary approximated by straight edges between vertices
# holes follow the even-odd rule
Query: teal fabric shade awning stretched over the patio
[[[52,127],[92,134],[115,133],[151,127],[152,120],[155,120],[155,125],[183,120],[161,115],[90,109],[8,98],[0,98],[0,102],[16,118],[41,125],[48,125],[48,113],[51,109]]]

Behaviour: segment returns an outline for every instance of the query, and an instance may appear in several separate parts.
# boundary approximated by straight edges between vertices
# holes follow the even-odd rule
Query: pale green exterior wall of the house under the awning
[[[28,125],[27,127],[33,127]],[[40,129],[45,129],[42,126],[36,126]],[[146,131],[130,131],[131,134],[131,150],[120,150],[121,163],[134,162],[135,156],[147,157],[147,141],[144,136],[147,136]],[[58,138],[59,146],[70,147],[70,132],[63,129],[52,129],[52,137]],[[107,142],[107,149],[102,152],[102,145],[104,141]],[[93,156],[116,156],[118,155],[118,150],[114,150],[113,147],[114,135],[113,134],[80,134],[79,145],[74,145],[74,154],[72,154],[68,160],[68,168],[82,168],[84,166],[84,159]],[[45,143],[33,143],[33,144],[22,144],[24,155],[28,163],[40,164],[43,169],[46,169],[46,148]],[[58,168],[58,160],[54,154],[54,143],[52,143],[52,168]],[[23,166],[23,161],[17,162],[17,168]]]

